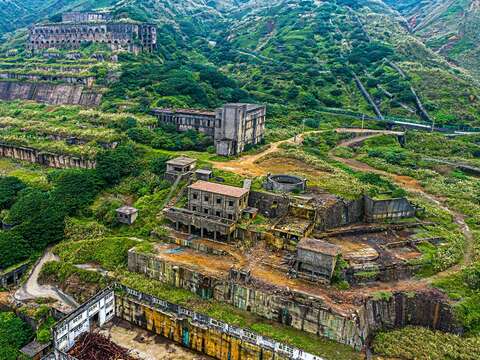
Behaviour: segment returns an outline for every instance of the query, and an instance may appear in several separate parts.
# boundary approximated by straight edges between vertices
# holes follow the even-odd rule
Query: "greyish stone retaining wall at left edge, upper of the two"
[[[51,105],[100,105],[102,94],[85,85],[0,81],[0,100],[34,100]]]

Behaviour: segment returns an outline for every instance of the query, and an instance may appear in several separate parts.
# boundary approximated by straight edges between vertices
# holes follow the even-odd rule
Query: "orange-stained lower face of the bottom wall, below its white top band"
[[[287,360],[279,354],[117,295],[116,315],[139,327],[219,360]]]

